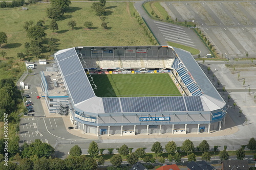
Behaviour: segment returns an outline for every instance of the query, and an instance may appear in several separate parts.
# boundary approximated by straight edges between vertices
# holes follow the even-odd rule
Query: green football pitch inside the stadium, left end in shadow
[[[169,74],[91,75],[97,86],[96,96],[177,96],[181,95]]]

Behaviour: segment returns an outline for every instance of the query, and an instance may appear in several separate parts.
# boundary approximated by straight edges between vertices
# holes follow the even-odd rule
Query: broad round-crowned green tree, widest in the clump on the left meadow
[[[27,31],[27,36],[30,39],[41,40],[46,37],[45,29],[40,26],[30,27]]]

